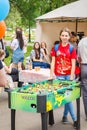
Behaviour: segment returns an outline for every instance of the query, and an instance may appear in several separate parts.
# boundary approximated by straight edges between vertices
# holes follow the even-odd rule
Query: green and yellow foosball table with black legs
[[[9,91],[9,108],[11,109],[11,130],[15,130],[15,111],[23,110],[41,113],[42,130],[48,130],[54,124],[53,109],[68,102],[77,102],[77,130],[80,130],[80,83],[70,80],[45,80],[27,84]]]

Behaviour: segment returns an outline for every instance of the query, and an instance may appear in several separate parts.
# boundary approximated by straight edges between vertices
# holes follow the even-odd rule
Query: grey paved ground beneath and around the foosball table
[[[76,105],[75,101],[74,105]],[[69,124],[64,125],[61,123],[62,114],[63,107],[54,110],[55,125],[49,126],[48,130],[74,130],[70,115],[68,116]],[[87,130],[87,121],[85,121],[82,99],[80,117],[81,130]],[[0,94],[0,130],[11,130],[10,109],[8,108],[8,95],[5,92],[2,92]],[[16,130],[41,130],[40,114],[17,111]]]

